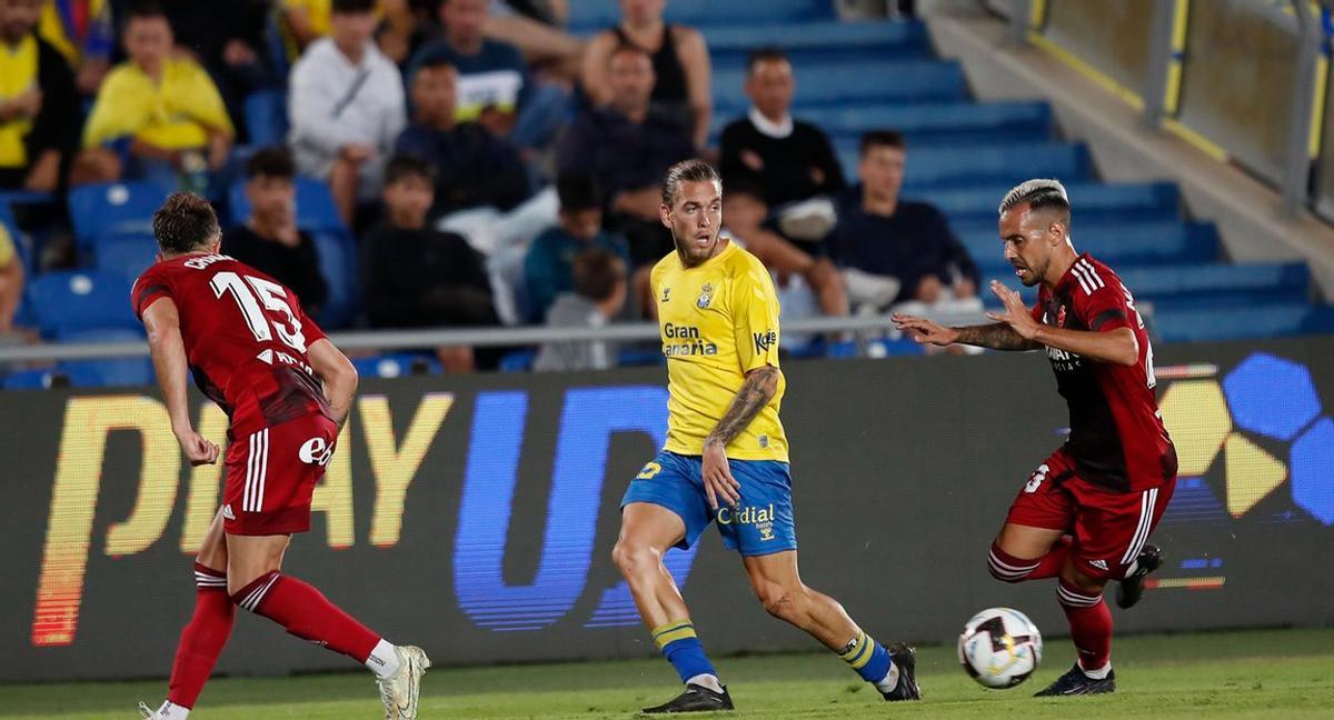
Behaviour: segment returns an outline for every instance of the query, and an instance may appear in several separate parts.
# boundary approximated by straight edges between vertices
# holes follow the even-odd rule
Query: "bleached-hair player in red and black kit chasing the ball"
[[[1130,291],[1111,268],[1070,243],[1070,199],[1055,180],[1029,180],[1000,203],[1005,259],[1029,287],[992,281],[1003,312],[991,325],[943,328],[895,316],[920,343],[963,343],[1002,351],[1046,349],[1057,389],[1070,405],[1070,437],[1034,471],[991,544],[991,575],[1006,583],[1058,577],[1078,660],[1038,695],[1117,689],[1111,612],[1103,585],[1119,580],[1129,608],[1162,564],[1146,543],[1177,485],[1177,451],[1154,395],[1154,353]]]

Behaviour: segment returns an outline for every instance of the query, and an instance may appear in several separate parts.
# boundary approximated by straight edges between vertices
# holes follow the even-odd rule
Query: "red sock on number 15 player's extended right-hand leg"
[[[233,595],[232,601],[283,625],[301,640],[319,643],[358,663],[366,663],[380,641],[379,635],[329,603],[320,591],[276,571],[256,577]]]

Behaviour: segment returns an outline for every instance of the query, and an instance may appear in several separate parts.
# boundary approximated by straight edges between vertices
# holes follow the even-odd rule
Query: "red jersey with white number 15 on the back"
[[[135,316],[159,297],[176,304],[195,384],[227,412],[231,437],[331,415],[307,357],[324,332],[296,293],[225,255],[184,255],[135,281]]]

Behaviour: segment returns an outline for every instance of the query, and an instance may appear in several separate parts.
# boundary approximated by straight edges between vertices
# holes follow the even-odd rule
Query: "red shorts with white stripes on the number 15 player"
[[[260,428],[227,447],[223,529],[291,535],[311,529],[311,493],[334,456],[338,424],[307,415]]]

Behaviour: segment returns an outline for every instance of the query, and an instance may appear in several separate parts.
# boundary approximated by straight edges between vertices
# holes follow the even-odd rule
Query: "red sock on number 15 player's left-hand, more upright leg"
[[[227,647],[236,620],[236,605],[227,597],[227,573],[195,563],[195,616],[180,631],[176,660],[171,665],[167,700],[193,708],[204,683]]]

